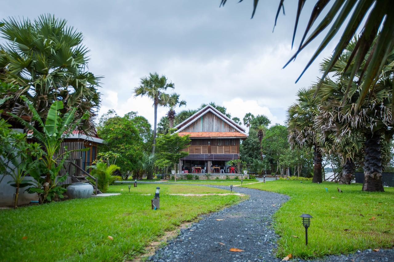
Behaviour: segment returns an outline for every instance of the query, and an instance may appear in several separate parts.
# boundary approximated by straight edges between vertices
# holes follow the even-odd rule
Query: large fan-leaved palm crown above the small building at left
[[[87,70],[89,50],[82,43],[82,33],[66,23],[49,15],[34,21],[15,18],[4,21],[0,28],[6,40],[0,45],[0,80],[20,88],[1,94],[13,98],[0,109],[19,116],[32,115],[28,105],[20,99],[20,95],[24,95],[44,120],[49,106],[54,101],[62,101],[61,113],[76,107],[76,120],[89,112],[89,118],[77,126],[89,134],[94,130],[93,120],[100,104],[97,88],[101,77]],[[39,128],[37,121],[33,125]]]

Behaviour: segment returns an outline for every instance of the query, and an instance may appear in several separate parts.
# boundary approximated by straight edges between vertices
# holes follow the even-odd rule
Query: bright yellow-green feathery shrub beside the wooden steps
[[[104,162],[97,162],[92,168],[91,175],[97,178],[97,187],[101,192],[105,193],[108,190],[108,186],[113,184],[117,180],[121,180],[121,177],[112,175],[115,170],[119,170],[117,165],[107,165]]]

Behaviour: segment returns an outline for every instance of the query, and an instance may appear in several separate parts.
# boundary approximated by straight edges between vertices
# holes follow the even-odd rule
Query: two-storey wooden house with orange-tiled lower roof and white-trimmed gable
[[[179,170],[187,173],[225,173],[233,171],[226,163],[240,158],[245,129],[207,105],[176,127],[180,136],[189,135],[189,155],[180,159]]]

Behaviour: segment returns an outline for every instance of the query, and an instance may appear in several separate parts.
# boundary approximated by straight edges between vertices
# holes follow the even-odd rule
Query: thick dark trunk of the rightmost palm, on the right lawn
[[[362,190],[384,192],[380,132],[365,134],[364,151],[364,183],[362,184]]]

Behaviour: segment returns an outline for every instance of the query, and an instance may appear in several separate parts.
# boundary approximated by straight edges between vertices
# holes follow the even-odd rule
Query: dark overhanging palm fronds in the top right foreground
[[[227,0],[221,0],[221,6],[224,6],[226,2]],[[252,18],[255,15],[258,2],[259,0],[253,1]],[[281,9],[283,9],[284,13],[283,2],[284,0],[279,2],[279,7],[275,17],[275,25]],[[301,11],[304,4],[305,0],[298,1],[292,46],[294,44],[298,21],[299,17],[301,16]],[[318,20],[317,18],[323,10],[325,16],[322,17],[320,23],[316,26],[314,31],[310,33],[308,38],[306,38],[310,29]],[[326,36],[323,38],[322,43],[320,46],[318,46],[316,52],[312,55],[307,66],[301,73],[302,76],[305,70],[307,70],[307,68],[312,64],[314,59],[316,59],[316,57],[318,57],[318,55],[329,44],[329,42],[331,42],[336,33],[342,29],[342,24],[345,22],[347,17],[350,17],[350,19],[348,20],[346,27],[343,30],[342,36],[335,47],[333,56],[331,59],[329,59],[329,64],[324,70],[323,76],[321,77],[321,81],[316,90],[319,90],[320,84],[325,79],[328,72],[335,65],[336,61],[338,61],[346,46],[348,46],[349,42],[351,42],[353,35],[356,34],[356,31],[361,26],[361,22],[365,21],[361,36],[356,42],[356,48],[354,48],[354,50],[351,52],[350,59],[345,65],[346,68],[349,68],[349,70],[352,72],[351,74],[353,76],[360,68],[362,68],[362,72],[365,74],[365,78],[363,78],[362,81],[357,82],[358,87],[362,87],[359,100],[356,104],[356,112],[358,112],[365,96],[368,94],[368,90],[373,89],[374,83],[379,79],[383,64],[392,52],[392,48],[394,46],[394,30],[392,30],[394,27],[394,5],[392,4],[391,0],[316,0],[316,4],[312,9],[309,22],[307,23],[296,54],[290,58],[286,65],[296,59],[299,52],[301,52],[305,46],[307,46],[320,33],[322,33],[322,31],[324,31],[325,28],[329,26],[330,22],[335,19],[332,27],[327,31]],[[374,41],[375,39],[376,41]],[[372,52],[369,52],[369,50],[372,50]],[[368,63],[364,63],[363,61],[368,61]],[[301,76],[299,76],[298,79]],[[351,84],[352,80],[353,77],[349,77],[348,85]]]

